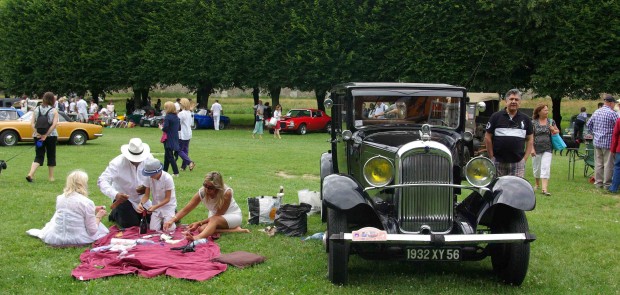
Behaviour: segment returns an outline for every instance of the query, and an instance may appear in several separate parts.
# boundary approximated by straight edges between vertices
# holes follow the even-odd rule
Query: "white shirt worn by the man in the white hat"
[[[149,155],[149,158],[152,157]],[[119,155],[110,161],[108,167],[101,173],[97,180],[97,186],[99,186],[101,193],[112,201],[119,192],[129,195],[129,201],[136,209],[142,198],[142,195],[138,195],[136,192],[136,188],[150,178],[142,175],[142,168],[144,168],[144,161],[136,168],[125,156]],[[144,206],[151,207],[151,201],[146,202]]]

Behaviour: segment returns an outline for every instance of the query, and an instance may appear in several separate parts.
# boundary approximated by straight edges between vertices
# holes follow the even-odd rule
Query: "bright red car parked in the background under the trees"
[[[319,109],[292,109],[277,124],[280,124],[280,132],[295,131],[303,135],[308,131],[330,132],[332,118]]]

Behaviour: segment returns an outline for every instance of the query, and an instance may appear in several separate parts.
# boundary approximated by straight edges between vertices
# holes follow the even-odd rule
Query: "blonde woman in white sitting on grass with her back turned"
[[[88,198],[86,172],[74,170],[67,176],[63,194],[56,197],[56,212],[50,222],[26,233],[53,246],[90,244],[110,232],[101,223],[106,214],[105,206],[95,206]]]

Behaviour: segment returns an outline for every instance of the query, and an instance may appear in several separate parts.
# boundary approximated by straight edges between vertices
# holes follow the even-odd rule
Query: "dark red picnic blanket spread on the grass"
[[[183,239],[182,229],[177,228],[173,239]],[[139,234],[139,228],[134,226],[121,232],[116,226],[110,228],[110,233],[95,241],[93,249],[109,245],[112,238],[139,239],[148,234],[157,234],[149,231]],[[154,244],[138,244],[122,254],[118,251],[91,252],[86,249],[80,255],[78,265],[71,275],[78,280],[92,280],[121,274],[138,274],[146,278],[158,275],[169,275],[175,278],[204,281],[226,270],[227,265],[211,259],[220,256],[220,247],[209,237],[209,242],[196,245],[195,252],[171,250],[170,248],[187,245],[187,240],[176,244],[160,242],[159,236],[148,238]],[[121,255],[122,254],[122,255]]]

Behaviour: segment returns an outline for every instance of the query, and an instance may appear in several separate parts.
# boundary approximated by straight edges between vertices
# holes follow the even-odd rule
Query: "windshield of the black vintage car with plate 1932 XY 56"
[[[370,95],[368,95],[370,94]],[[460,92],[395,92],[372,95],[354,93],[356,127],[378,124],[430,124],[456,128]]]

